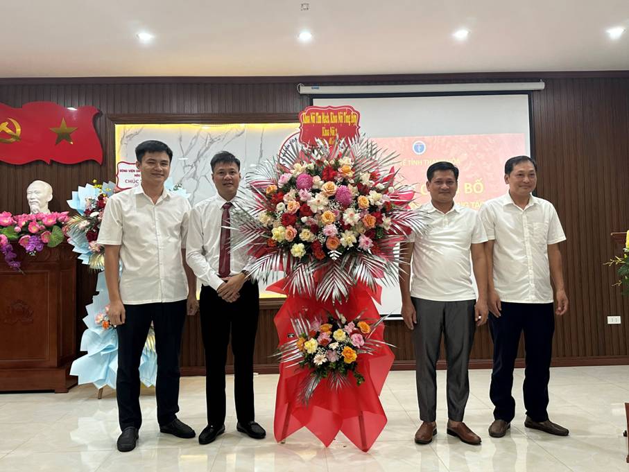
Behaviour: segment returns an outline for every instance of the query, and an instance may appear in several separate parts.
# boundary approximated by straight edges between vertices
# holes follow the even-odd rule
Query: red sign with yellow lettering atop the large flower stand
[[[307,107],[299,114],[299,140],[314,146],[317,139],[330,145],[358,137],[361,114],[354,107]]]

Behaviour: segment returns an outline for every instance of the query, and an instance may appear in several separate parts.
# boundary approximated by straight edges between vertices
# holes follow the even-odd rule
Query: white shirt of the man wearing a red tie
[[[239,202],[236,196],[231,202]],[[218,277],[218,258],[221,254],[221,225],[223,221],[223,204],[227,203],[221,195],[203,200],[196,204],[190,212],[190,226],[186,242],[186,261],[205,286],[217,290],[223,279]],[[230,214],[237,211],[232,207]],[[234,229],[232,229],[232,232]],[[232,238],[231,245],[234,245]],[[249,260],[247,248],[230,251],[230,275],[241,272]]]

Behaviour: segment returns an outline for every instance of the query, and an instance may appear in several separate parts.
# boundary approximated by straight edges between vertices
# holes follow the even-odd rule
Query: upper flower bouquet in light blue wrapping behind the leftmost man
[[[94,270],[105,268],[104,250],[96,240],[107,199],[113,195],[114,190],[113,182],[98,184],[94,180],[92,184],[72,192],[72,200],[68,200],[70,207],[78,212],[66,223],[69,241],[74,245],[74,251],[80,254],[79,259]]]

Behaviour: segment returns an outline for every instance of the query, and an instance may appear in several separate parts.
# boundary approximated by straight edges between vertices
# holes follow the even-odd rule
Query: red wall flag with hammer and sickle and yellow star
[[[0,161],[101,164],[103,148],[94,129],[97,113],[96,107],[75,110],[52,102],[31,102],[21,108],[0,103]]]

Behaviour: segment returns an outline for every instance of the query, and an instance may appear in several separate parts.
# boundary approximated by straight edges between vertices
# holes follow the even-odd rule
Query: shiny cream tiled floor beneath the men
[[[325,448],[307,430],[286,444],[273,439],[276,375],[256,376],[257,420],[268,431],[263,441],[236,432],[233,378],[227,380],[227,432],[213,444],[161,435],[155,421],[153,389],[142,392],[144,426],[131,453],[115,450],[119,435],[115,394],[96,399],[91,385],[69,394],[0,394],[0,471],[628,471],[624,401],[629,401],[629,366],[564,367],[551,372],[551,419],[570,429],[553,437],[524,428],[522,369],[514,396],[517,416],[506,437],[490,438],[490,371],[472,370],[472,394],[465,422],[483,438],[467,446],[445,435],[445,372],[438,372],[436,440],[417,446],[419,426],[414,372],[391,372],[381,395],[388,424],[368,453],[343,435]],[[182,379],[180,419],[197,432],[205,426],[205,378]]]

